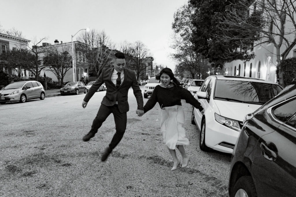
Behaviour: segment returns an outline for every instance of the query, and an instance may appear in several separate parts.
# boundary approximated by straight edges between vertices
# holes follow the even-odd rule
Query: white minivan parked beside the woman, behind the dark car
[[[200,130],[200,149],[232,153],[244,116],[281,92],[278,84],[242,76],[213,75],[194,97],[204,110],[192,110],[192,124]],[[256,125],[254,125],[256,126]]]

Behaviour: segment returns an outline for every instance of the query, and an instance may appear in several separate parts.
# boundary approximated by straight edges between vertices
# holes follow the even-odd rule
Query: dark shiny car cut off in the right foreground
[[[229,196],[296,196],[296,85],[246,115],[232,153]]]

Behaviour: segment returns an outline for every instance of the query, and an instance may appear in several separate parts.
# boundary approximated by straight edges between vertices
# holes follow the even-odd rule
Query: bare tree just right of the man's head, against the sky
[[[127,68],[134,70],[139,77],[151,71],[153,58],[151,57],[147,47],[141,41],[136,41],[131,45],[130,64]]]

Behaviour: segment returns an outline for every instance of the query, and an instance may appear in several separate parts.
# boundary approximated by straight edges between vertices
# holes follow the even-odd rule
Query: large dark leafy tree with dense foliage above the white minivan
[[[232,43],[227,40],[221,41],[217,39],[219,27],[223,22],[223,15],[229,12],[229,5],[234,4],[238,0],[189,0],[189,3],[194,8],[192,23],[196,27],[192,35],[192,43],[194,49],[203,57],[208,58],[209,62],[214,66],[222,67],[225,62],[231,62],[237,59],[250,60],[254,57],[254,53],[248,51],[237,51],[240,44]],[[242,15],[247,15],[248,10],[245,7],[238,8]],[[260,22],[258,22],[258,26]],[[230,30],[234,37],[237,35],[236,29]],[[255,40],[258,32],[255,30],[250,35]],[[246,40],[248,41],[248,40]],[[251,44],[250,42],[247,44]],[[228,56],[228,52],[233,52]]]

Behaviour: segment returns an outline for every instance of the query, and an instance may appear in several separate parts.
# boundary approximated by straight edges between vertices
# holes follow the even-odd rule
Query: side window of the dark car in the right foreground
[[[274,116],[281,122],[287,122],[294,114],[296,108],[296,99],[290,100],[273,109]]]

